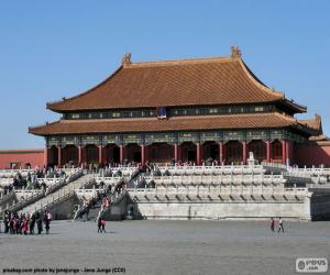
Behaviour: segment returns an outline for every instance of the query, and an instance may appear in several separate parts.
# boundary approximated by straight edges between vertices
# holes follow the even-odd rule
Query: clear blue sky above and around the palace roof
[[[0,1],[0,148],[44,146],[47,101],[134,61],[230,55],[322,117],[330,135],[330,1]]]

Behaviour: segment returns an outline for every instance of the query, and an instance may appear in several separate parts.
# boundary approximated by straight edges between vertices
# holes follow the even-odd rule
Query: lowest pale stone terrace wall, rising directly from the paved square
[[[132,205],[134,206],[134,205]],[[130,206],[129,206],[130,209]],[[309,199],[304,201],[180,201],[139,202],[134,216],[145,219],[263,219],[283,217],[310,220]]]

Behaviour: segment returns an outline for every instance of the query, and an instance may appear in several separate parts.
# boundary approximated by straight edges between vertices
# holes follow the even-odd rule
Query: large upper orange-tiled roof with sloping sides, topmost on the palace
[[[109,78],[76,97],[47,103],[62,112],[116,108],[273,102],[282,92],[263,85],[238,57],[124,62]]]

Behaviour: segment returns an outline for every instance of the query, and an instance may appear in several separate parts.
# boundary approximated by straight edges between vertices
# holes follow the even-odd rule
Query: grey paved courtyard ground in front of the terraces
[[[330,222],[285,222],[285,229],[272,233],[263,221],[124,221],[108,222],[98,234],[92,222],[56,221],[50,235],[0,234],[0,273],[295,274],[296,257],[330,260]]]

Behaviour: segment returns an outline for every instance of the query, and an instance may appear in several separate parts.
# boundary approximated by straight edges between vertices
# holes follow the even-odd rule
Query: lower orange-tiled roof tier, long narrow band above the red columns
[[[250,113],[228,116],[173,117],[165,120],[147,119],[99,119],[59,120],[42,127],[30,128],[36,135],[124,133],[160,131],[198,131],[220,129],[284,128],[297,124],[292,117],[273,113]]]

